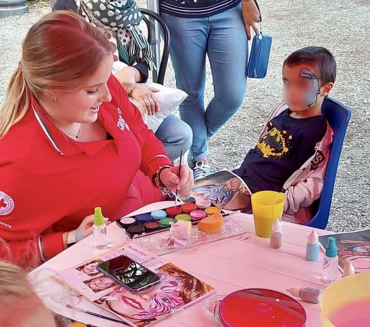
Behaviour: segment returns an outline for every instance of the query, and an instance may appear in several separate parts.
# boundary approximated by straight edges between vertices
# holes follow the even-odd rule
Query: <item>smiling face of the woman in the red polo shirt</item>
[[[107,87],[107,81],[112,74],[112,64],[113,56],[106,56],[80,89],[54,93],[52,96],[55,97],[55,105],[50,105],[49,115],[62,124],[95,122],[99,106],[112,100]]]

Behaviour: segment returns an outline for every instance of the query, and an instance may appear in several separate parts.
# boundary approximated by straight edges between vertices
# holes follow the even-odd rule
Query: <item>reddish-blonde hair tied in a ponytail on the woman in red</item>
[[[35,23],[22,45],[0,111],[0,138],[26,114],[31,93],[48,94],[81,86],[115,47],[104,32],[71,11],[51,12]]]

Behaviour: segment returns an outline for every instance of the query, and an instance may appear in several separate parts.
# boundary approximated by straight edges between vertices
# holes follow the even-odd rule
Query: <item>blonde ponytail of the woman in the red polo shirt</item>
[[[22,67],[18,66],[10,78],[5,102],[0,111],[0,138],[3,138],[11,126],[25,116],[29,105],[30,90],[23,75]]]

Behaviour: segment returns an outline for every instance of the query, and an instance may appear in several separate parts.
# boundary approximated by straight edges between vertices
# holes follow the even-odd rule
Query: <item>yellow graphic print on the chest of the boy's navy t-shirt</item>
[[[270,121],[267,134],[257,143],[257,149],[264,158],[283,158],[289,152],[289,140],[292,138],[287,131],[274,126]]]

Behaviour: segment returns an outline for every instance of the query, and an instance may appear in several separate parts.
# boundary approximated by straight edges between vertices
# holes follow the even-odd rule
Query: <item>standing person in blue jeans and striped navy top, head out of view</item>
[[[208,139],[243,103],[250,28],[259,13],[253,0],[160,0],[161,16],[170,29],[171,60],[177,87],[189,94],[180,116],[193,130],[188,156],[194,177],[210,173]],[[206,54],[214,97],[205,108]]]

